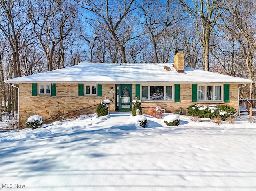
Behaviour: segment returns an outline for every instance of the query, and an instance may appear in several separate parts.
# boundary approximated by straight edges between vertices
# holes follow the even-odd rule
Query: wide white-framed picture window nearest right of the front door
[[[173,101],[173,86],[144,86],[142,85],[142,100]]]

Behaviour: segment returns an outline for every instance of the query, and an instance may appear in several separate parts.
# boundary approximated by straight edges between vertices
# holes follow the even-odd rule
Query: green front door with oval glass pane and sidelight
[[[132,84],[116,85],[116,110],[132,110]]]

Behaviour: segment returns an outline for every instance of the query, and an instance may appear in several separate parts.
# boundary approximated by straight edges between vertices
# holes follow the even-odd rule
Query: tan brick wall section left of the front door
[[[42,84],[43,85],[43,84]],[[96,84],[88,84],[96,85]],[[25,123],[28,117],[32,115],[40,115],[43,118],[49,118],[49,112],[63,113],[75,111],[88,106],[100,103],[100,100],[106,96],[112,100],[113,93],[108,93],[114,84],[102,85],[102,96],[84,95],[78,96],[78,84],[63,83],[56,84],[56,96],[37,95],[32,96],[31,84],[20,84],[19,97],[19,118],[21,123]],[[110,110],[114,111],[114,104],[110,105]]]

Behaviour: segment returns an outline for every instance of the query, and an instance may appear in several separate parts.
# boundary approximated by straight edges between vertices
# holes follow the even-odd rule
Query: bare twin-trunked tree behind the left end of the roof
[[[64,67],[63,41],[74,28],[77,7],[71,1],[45,0],[28,2],[28,18],[33,31],[42,45],[48,61],[48,71],[53,69],[54,50],[59,45]]]

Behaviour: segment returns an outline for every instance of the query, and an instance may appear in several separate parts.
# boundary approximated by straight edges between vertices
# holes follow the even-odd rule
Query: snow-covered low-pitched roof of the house
[[[170,67],[167,71],[164,66]],[[44,73],[8,79],[6,83],[252,83],[249,79],[184,68],[178,73],[173,63],[79,63]]]

